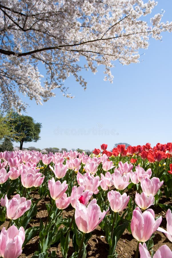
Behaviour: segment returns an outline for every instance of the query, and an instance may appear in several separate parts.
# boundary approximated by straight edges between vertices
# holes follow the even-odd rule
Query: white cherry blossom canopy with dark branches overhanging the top
[[[155,1],[142,0],[1,0],[0,1],[0,88],[2,108],[26,109],[18,95],[36,103],[47,101],[71,74],[86,89],[81,69],[93,73],[105,66],[105,80],[112,82],[114,61],[137,63],[139,48],[149,38],[161,39],[172,23],[161,22],[156,14],[147,24],[142,16],[151,13]],[[85,58],[81,65],[80,58]],[[47,71],[44,86],[38,65]]]

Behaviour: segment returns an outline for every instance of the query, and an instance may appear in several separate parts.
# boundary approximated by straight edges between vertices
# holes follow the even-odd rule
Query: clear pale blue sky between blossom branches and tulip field
[[[163,21],[171,21],[172,0],[159,0],[151,16],[161,9]],[[41,140],[24,143],[23,148],[93,150],[106,143],[111,150],[119,142],[172,142],[172,33],[162,36],[162,42],[151,39],[149,48],[140,50],[139,64],[122,66],[117,61],[113,84],[103,81],[103,67],[98,67],[95,75],[82,72],[86,91],[73,77],[64,82],[74,99],[63,97],[58,89],[43,106],[23,97],[30,106],[24,114],[42,123]]]

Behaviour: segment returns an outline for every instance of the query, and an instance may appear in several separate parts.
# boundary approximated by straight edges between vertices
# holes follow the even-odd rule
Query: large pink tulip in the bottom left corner
[[[0,255],[4,258],[17,258],[22,253],[22,245],[25,241],[25,230],[12,225],[7,230],[5,227],[0,234]]]

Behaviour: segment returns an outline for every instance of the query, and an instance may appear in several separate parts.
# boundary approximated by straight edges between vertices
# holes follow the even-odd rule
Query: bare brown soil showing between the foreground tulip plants
[[[38,196],[35,196],[35,198],[38,198]],[[30,222],[29,227],[31,226],[39,226],[39,218],[43,220],[43,222],[46,221],[47,218],[47,210],[45,203],[49,203],[49,197],[46,197],[45,200],[39,201],[37,208],[38,212],[37,215],[33,218],[33,220]],[[162,204],[170,204],[172,205],[172,202],[170,199],[166,199],[165,196],[163,196],[160,200],[160,203]],[[150,207],[152,208],[152,207]],[[165,218],[166,211],[162,210],[159,206],[153,207],[153,210],[155,212],[156,216],[162,216],[162,222],[160,224],[161,227],[166,229],[167,221]],[[73,208],[69,206],[66,210],[63,211],[64,217],[72,217],[73,216]],[[7,219],[4,224],[0,226],[0,230],[3,226],[7,228],[9,223],[9,220]],[[161,245],[166,244],[171,250],[172,250],[172,243],[166,238],[166,236],[156,231],[155,237],[153,239],[154,241],[154,251],[156,251]],[[39,243],[39,236],[35,236],[33,239],[31,239],[27,245],[23,248],[22,254],[19,256],[19,258],[31,258],[35,251],[38,250],[38,243]],[[125,230],[123,233],[121,239],[119,239],[116,251],[118,253],[119,258],[124,257],[135,257],[135,250],[137,246],[137,241],[133,238],[132,234],[129,233],[128,230]],[[108,244],[106,242],[105,233],[101,230],[99,226],[92,232],[92,237],[88,241],[87,245],[87,257],[89,258],[106,258],[108,256]],[[61,248],[60,243],[54,244],[50,248],[50,252],[55,250],[57,257],[62,258],[61,254]],[[72,255],[74,252],[72,241],[69,245],[69,252],[68,257]]]

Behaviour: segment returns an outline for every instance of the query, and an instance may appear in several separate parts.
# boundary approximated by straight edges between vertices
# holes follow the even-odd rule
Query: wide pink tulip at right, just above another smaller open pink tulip
[[[163,181],[160,182],[158,177],[152,177],[151,179],[149,178],[141,179],[141,189],[148,196],[150,194],[155,196],[155,194],[158,192],[162,184],[163,184]]]

